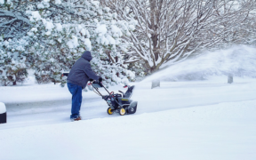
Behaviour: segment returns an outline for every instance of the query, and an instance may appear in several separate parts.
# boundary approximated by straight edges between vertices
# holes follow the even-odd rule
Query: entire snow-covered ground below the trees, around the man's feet
[[[256,79],[234,80],[163,82],[153,90],[137,83],[138,110],[129,116],[108,116],[104,100],[83,92],[79,122],[68,119],[66,87],[0,87],[8,117],[0,159],[255,160]]]

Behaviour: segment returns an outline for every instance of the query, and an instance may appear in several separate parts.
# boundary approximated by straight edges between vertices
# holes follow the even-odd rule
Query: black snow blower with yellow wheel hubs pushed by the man
[[[89,85],[92,85],[93,91],[100,95],[103,100],[107,101],[108,115],[112,115],[116,112],[119,113],[119,115],[124,116],[125,114],[134,114],[136,112],[138,102],[130,99],[134,85],[125,85],[124,88],[128,88],[125,93],[121,91],[119,91],[120,93],[108,92],[107,88],[99,81],[91,81]],[[108,92],[108,95],[102,95],[99,88],[104,88]]]

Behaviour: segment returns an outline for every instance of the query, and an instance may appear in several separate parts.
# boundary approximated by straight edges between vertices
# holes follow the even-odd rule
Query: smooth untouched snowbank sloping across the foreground
[[[1,159],[255,160],[255,103],[4,129]]]

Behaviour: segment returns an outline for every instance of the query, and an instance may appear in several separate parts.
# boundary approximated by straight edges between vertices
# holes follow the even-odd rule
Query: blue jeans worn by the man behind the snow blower
[[[75,119],[80,116],[82,103],[82,87],[76,84],[68,83],[68,90],[72,94],[72,108],[70,118]]]

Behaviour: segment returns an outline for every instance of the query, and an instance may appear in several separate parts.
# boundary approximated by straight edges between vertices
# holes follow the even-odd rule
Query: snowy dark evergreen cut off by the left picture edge
[[[0,84],[16,84],[28,75],[25,35],[29,29],[29,20],[13,9],[12,1],[0,1]]]

